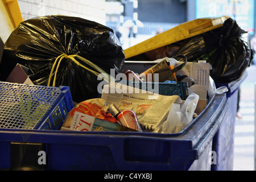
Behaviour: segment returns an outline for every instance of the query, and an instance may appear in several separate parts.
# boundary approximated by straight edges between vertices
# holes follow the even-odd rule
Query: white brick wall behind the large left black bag
[[[67,15],[106,24],[105,0],[18,0],[23,20],[42,15]]]

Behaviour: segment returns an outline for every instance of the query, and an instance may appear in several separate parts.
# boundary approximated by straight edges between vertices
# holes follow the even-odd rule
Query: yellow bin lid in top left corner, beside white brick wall
[[[5,43],[11,32],[23,22],[17,0],[0,0],[0,38]]]

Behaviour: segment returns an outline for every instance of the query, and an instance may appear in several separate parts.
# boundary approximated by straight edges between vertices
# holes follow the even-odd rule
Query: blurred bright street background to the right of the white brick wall
[[[159,31],[205,17],[230,16],[251,36],[255,32],[254,0],[106,0],[106,7],[106,26],[122,32],[125,48]]]

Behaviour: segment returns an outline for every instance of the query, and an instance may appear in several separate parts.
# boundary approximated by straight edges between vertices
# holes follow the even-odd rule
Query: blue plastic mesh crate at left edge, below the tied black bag
[[[68,86],[0,82],[0,129],[59,130],[72,108]]]

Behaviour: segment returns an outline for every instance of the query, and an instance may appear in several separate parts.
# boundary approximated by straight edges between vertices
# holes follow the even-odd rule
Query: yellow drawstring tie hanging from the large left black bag
[[[89,69],[89,68],[85,67],[84,65],[80,64],[79,61],[77,61],[77,60],[75,59],[75,57],[77,57],[78,59],[80,59],[80,60],[83,61],[84,63],[90,65],[90,67],[94,68],[94,69],[95,69],[96,71],[98,71],[98,72],[93,71],[92,69]],[[110,83],[110,81],[115,81],[115,79],[114,79],[112,76],[110,76],[108,73],[106,73],[103,69],[101,69],[101,68],[98,67],[97,65],[93,64],[93,63],[90,62],[89,60],[85,59],[84,57],[81,57],[81,56],[79,56],[79,55],[67,55],[67,54],[63,53],[62,55],[60,55],[59,57],[57,57],[57,58],[55,59],[55,62],[54,62],[53,66],[52,66],[52,69],[51,69],[51,73],[50,73],[50,75],[49,75],[49,80],[48,80],[47,86],[50,86],[53,74],[54,74],[54,78],[53,78],[52,86],[55,86],[55,84],[56,84],[56,78],[57,78],[57,71],[58,71],[58,69],[59,69],[59,67],[60,67],[61,61],[62,61],[64,58],[65,58],[65,59],[71,59],[72,61],[74,61],[74,63],[76,63],[76,64],[79,65],[80,67],[86,69],[87,71],[92,72],[92,73],[93,73],[94,75],[96,75],[96,76],[98,76],[98,75],[100,75],[100,74],[102,73],[102,74],[101,74],[102,78],[104,78],[104,80],[107,81],[107,82],[109,82],[109,83]],[[58,60],[59,60],[59,63],[57,64]],[[57,67],[56,67],[56,64],[57,64]],[[56,67],[56,71],[55,71],[55,73],[53,73],[55,67]]]

